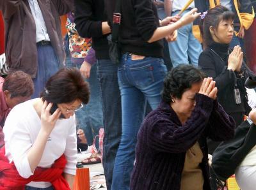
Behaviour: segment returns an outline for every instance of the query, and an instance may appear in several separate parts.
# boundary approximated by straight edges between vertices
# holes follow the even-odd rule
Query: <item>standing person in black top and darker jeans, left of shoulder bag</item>
[[[121,96],[117,82],[117,65],[109,59],[107,36],[111,33],[107,22],[104,0],[75,0],[75,23],[79,35],[92,38],[97,58],[97,77],[100,85],[103,112],[102,164],[107,189],[111,189],[113,167],[121,130]]]

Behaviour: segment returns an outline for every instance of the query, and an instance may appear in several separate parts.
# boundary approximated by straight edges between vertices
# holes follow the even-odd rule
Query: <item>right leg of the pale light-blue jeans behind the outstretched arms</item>
[[[189,24],[189,26],[190,32],[188,38],[188,57],[190,59],[191,64],[193,64],[194,66],[198,66],[198,58],[203,49],[200,42],[196,40],[195,36],[192,33],[192,24]]]

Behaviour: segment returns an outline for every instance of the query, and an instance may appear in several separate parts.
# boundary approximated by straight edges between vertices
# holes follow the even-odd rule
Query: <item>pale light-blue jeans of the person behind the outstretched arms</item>
[[[184,11],[187,13],[189,10]],[[175,16],[179,11],[172,13]],[[182,13],[182,15],[184,14]],[[198,64],[198,57],[202,52],[202,46],[192,33],[192,24],[180,27],[176,41],[169,43],[170,57],[173,67],[179,64]]]

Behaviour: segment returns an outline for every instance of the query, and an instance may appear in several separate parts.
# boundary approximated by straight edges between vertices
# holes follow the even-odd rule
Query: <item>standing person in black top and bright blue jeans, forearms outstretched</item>
[[[111,26],[115,3],[112,0],[105,1]],[[153,1],[122,1],[121,4],[122,21],[118,41],[122,58],[118,65],[118,84],[122,99],[122,137],[115,159],[113,190],[129,189],[136,136],[145,117],[146,101],[153,110],[161,101],[163,79],[167,71],[162,58],[162,38],[175,40],[175,30],[200,15],[194,9],[179,20],[178,17],[167,17],[159,23]]]

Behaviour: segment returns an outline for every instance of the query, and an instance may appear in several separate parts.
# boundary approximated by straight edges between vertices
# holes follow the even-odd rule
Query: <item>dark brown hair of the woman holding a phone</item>
[[[78,69],[63,68],[47,80],[40,97],[51,103],[71,103],[79,99],[87,104],[90,90]]]

